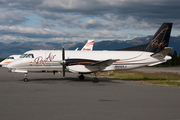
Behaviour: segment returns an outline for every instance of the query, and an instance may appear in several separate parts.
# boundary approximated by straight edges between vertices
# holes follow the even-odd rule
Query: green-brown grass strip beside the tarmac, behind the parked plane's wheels
[[[136,81],[145,84],[159,86],[180,86],[180,74],[178,73],[144,73],[139,71],[114,71],[110,75],[107,72],[100,72],[100,76],[108,78],[116,78],[127,81]]]

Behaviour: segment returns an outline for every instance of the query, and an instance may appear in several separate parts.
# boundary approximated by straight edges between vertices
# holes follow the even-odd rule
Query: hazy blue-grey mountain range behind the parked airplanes
[[[148,43],[152,36],[142,37],[142,38],[134,38],[132,40],[104,40],[104,41],[95,41],[93,50],[117,50],[123,49],[127,47],[133,47],[137,45],[143,45]],[[12,54],[23,54],[28,50],[60,50],[62,46],[65,47],[66,50],[75,50],[76,48],[81,48],[85,45],[87,41],[74,43],[74,42],[63,42],[63,43],[41,43],[41,42],[12,42],[9,44],[5,44],[0,42],[0,58],[8,57]],[[173,47],[173,50],[176,50],[177,53],[180,54],[180,36],[171,37],[169,41],[169,46]],[[172,51],[173,52],[173,51]]]

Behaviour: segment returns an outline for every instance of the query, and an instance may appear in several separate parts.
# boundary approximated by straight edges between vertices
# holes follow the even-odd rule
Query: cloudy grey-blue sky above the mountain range
[[[130,40],[172,22],[180,35],[178,0],[0,0],[0,42]]]

